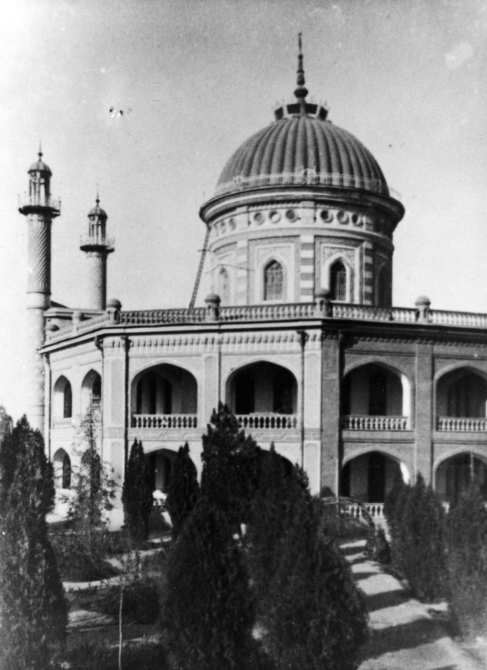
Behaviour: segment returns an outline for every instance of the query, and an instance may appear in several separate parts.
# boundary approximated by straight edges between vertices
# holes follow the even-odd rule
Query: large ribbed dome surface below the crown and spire
[[[246,140],[223,168],[216,195],[299,184],[389,195],[372,153],[351,133],[309,115],[285,117]]]

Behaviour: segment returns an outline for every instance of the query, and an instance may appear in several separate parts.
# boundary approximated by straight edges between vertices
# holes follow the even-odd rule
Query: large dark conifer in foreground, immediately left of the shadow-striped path
[[[298,468],[287,488],[284,505],[278,502],[284,532],[274,541],[274,574],[259,607],[264,648],[278,670],[354,669],[367,632],[364,594],[333,541],[321,533],[321,503],[311,498]]]

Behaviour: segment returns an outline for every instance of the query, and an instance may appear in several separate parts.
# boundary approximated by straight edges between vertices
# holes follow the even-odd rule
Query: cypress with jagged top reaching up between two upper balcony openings
[[[201,493],[224,509],[230,525],[238,529],[248,521],[258,485],[259,452],[227,405],[219,403],[203,435]]]

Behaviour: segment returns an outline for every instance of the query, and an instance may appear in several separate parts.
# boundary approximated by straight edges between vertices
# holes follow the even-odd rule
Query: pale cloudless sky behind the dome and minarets
[[[79,249],[99,189],[115,237],[108,297],[188,306],[225,162],[292,99],[358,137],[406,209],[394,305],[487,312],[487,1],[3,0],[0,25],[0,404],[25,407],[27,224],[37,158],[62,200],[52,299],[83,308]],[[113,111],[111,111],[113,110]],[[123,114],[119,114],[122,111]],[[205,268],[197,304],[209,291]]]

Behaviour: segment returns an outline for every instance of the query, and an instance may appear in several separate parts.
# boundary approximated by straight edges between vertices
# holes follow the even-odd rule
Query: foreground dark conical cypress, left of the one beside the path
[[[164,625],[185,670],[243,670],[252,661],[254,604],[241,548],[223,509],[200,496],[172,549]]]

